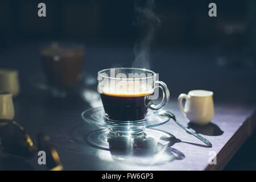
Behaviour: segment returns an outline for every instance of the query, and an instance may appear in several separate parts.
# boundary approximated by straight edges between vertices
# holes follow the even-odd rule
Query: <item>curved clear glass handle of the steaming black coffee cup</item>
[[[149,106],[149,108],[151,110],[159,110],[159,109],[163,109],[163,107],[168,103],[169,98],[170,98],[170,92],[169,89],[167,88],[167,85],[163,82],[163,81],[155,81],[155,84],[158,84],[158,86],[155,86],[154,89],[156,88],[160,88],[163,90],[163,98],[162,101],[160,102],[160,104],[158,105],[154,105],[151,103],[151,105]]]

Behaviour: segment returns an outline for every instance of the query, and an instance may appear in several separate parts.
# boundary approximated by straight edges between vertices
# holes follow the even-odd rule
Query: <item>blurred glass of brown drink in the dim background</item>
[[[40,50],[42,67],[47,84],[62,92],[73,88],[79,82],[84,46],[54,42]]]

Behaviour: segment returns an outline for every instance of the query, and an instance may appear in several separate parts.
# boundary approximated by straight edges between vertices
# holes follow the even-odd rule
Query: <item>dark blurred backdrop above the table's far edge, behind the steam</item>
[[[1,49],[19,42],[46,39],[118,45],[132,45],[137,39],[137,29],[132,23],[134,1],[43,1],[47,5],[45,18],[37,16],[40,2],[0,2]],[[217,4],[217,18],[208,16],[210,2]],[[238,46],[239,43],[241,47],[245,47],[250,40],[246,33],[254,28],[255,2],[252,0],[162,0],[155,1],[155,6],[156,13],[162,20],[155,42],[163,47],[228,45],[232,41],[233,46]]]

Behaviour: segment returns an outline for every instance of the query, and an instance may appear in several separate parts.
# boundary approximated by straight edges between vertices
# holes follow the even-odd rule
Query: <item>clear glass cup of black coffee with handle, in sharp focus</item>
[[[142,121],[148,109],[162,109],[170,92],[157,76],[141,68],[110,68],[98,72],[98,92],[105,117],[112,121]],[[155,105],[152,100],[158,99],[158,88],[162,89],[163,98]]]

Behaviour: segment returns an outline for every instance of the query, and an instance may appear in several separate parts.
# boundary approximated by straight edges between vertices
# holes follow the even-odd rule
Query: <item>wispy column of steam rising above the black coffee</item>
[[[150,48],[155,31],[160,27],[160,19],[154,12],[154,0],[135,0],[134,26],[139,28],[139,36],[134,45],[134,68],[150,69]]]

